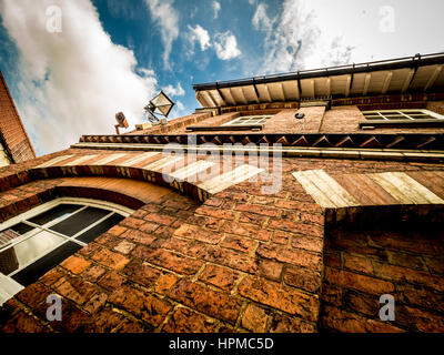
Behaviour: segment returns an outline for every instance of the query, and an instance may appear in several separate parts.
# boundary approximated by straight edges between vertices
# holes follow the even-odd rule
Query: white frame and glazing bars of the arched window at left
[[[60,204],[77,204],[77,205],[82,205],[80,209],[78,209],[77,211],[74,211],[73,213],[61,217],[61,219],[57,219],[54,221],[50,221],[47,224],[42,225],[38,225],[34,223],[31,223],[27,220],[30,220],[37,215],[40,215],[53,207],[56,207],[57,205]],[[108,213],[107,215],[104,215],[103,217],[101,217],[100,220],[95,221],[94,223],[91,223],[90,225],[88,225],[87,227],[84,227],[83,230],[79,231],[78,233],[75,233],[72,236],[68,236],[61,233],[58,233],[56,231],[51,231],[49,230],[50,226],[62,222],[63,220],[71,217],[72,215],[83,211],[84,209],[88,207],[99,207],[102,210],[107,210],[110,211],[110,213]],[[10,241],[9,243],[6,243],[4,245],[0,246],[0,252],[7,250],[7,248],[11,248],[14,245],[37,235],[38,233],[46,231],[49,232],[56,236],[62,237],[64,241],[61,244],[56,245],[54,247],[46,251],[46,254],[43,255],[39,255],[38,257],[31,260],[30,262],[28,262],[24,265],[21,265],[20,268],[13,271],[12,273],[10,273],[9,275],[3,275],[2,273],[0,273],[0,305],[6,302],[7,300],[11,298],[16,293],[20,292],[21,290],[23,290],[24,287],[19,284],[18,282],[16,282],[11,276],[13,276],[16,273],[22,271],[23,268],[28,267],[29,265],[33,264],[34,262],[37,262],[38,260],[40,260],[41,257],[43,257],[44,255],[48,255],[49,253],[51,253],[52,251],[54,251],[56,248],[60,247],[61,245],[68,243],[68,242],[73,242],[80,246],[85,246],[87,243],[81,242],[75,240],[77,236],[83,234],[84,232],[87,232],[88,230],[94,227],[95,225],[98,225],[99,223],[103,222],[104,220],[107,220],[108,217],[110,217],[112,214],[117,213],[122,215],[123,217],[128,217],[129,215],[131,215],[134,212],[134,210],[124,207],[122,205],[112,203],[112,202],[107,202],[107,201],[99,201],[99,200],[92,200],[92,199],[80,199],[80,197],[60,197],[60,199],[54,199],[50,202],[43,203],[30,211],[23,212],[20,215],[12,217],[10,220],[8,220],[7,222],[0,223],[0,231],[4,231],[8,230],[9,227],[18,224],[18,223],[23,223],[27,224],[29,226],[32,226],[33,230],[29,231],[27,233],[24,233],[23,235],[18,236],[17,239]],[[3,288],[3,290],[2,290]]]

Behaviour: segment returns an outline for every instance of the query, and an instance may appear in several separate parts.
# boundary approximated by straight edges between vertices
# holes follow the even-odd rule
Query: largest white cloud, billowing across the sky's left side
[[[61,33],[46,30],[50,4],[62,10]],[[16,101],[39,153],[113,133],[119,111],[130,126],[141,121],[154,72],[135,72],[133,52],[112,43],[90,0],[0,0],[0,13],[20,53]]]

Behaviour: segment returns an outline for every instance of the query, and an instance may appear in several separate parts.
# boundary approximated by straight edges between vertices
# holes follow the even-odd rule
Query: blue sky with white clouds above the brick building
[[[0,70],[38,155],[169,119],[193,83],[444,52],[442,0],[0,0]],[[128,130],[128,131],[129,131]],[[122,130],[125,132],[125,130]]]

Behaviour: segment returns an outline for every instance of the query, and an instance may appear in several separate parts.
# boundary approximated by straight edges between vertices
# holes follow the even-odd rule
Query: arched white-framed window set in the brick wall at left
[[[113,203],[62,197],[0,224],[0,305],[131,213]]]

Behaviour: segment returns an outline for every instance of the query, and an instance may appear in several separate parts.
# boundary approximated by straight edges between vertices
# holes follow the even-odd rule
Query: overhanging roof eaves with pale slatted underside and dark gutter
[[[203,108],[444,90],[444,53],[194,84]]]

